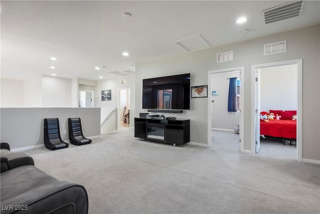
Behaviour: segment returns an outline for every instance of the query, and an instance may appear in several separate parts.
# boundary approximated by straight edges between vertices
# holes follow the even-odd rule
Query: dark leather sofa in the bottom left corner
[[[1,143],[0,149],[1,214],[88,213],[82,185],[55,179],[36,168],[25,153],[12,153],[4,145]]]

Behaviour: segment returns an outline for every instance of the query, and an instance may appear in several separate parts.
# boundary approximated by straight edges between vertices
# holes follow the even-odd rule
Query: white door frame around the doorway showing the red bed
[[[297,161],[302,161],[302,59],[288,60],[282,62],[273,62],[266,64],[258,64],[251,66],[251,152],[255,154],[255,70],[259,68],[268,68],[283,65],[296,65],[297,67],[297,109],[296,115],[298,120],[296,122],[296,159]],[[259,116],[257,114],[257,116]]]

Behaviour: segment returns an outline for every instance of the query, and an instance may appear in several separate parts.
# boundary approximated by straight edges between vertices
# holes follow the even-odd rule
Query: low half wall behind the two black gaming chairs
[[[59,118],[62,140],[68,140],[68,118],[81,118],[85,137],[100,135],[100,108],[1,108],[1,140],[10,148],[43,145],[43,119]],[[66,134],[63,134],[66,130]]]

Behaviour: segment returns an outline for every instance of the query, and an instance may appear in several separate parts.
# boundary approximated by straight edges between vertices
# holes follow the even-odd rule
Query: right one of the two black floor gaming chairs
[[[92,142],[92,140],[87,139],[83,136],[80,118],[69,118],[68,123],[70,143],[79,146]]]

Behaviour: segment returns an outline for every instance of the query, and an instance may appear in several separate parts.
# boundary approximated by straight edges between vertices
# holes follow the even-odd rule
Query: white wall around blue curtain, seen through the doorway
[[[211,127],[233,130],[240,122],[240,112],[228,112],[229,80],[231,77],[240,77],[240,72],[226,72],[211,75],[211,91],[218,91],[218,96],[208,97],[214,100],[211,105]],[[241,99],[241,98],[240,98]]]

